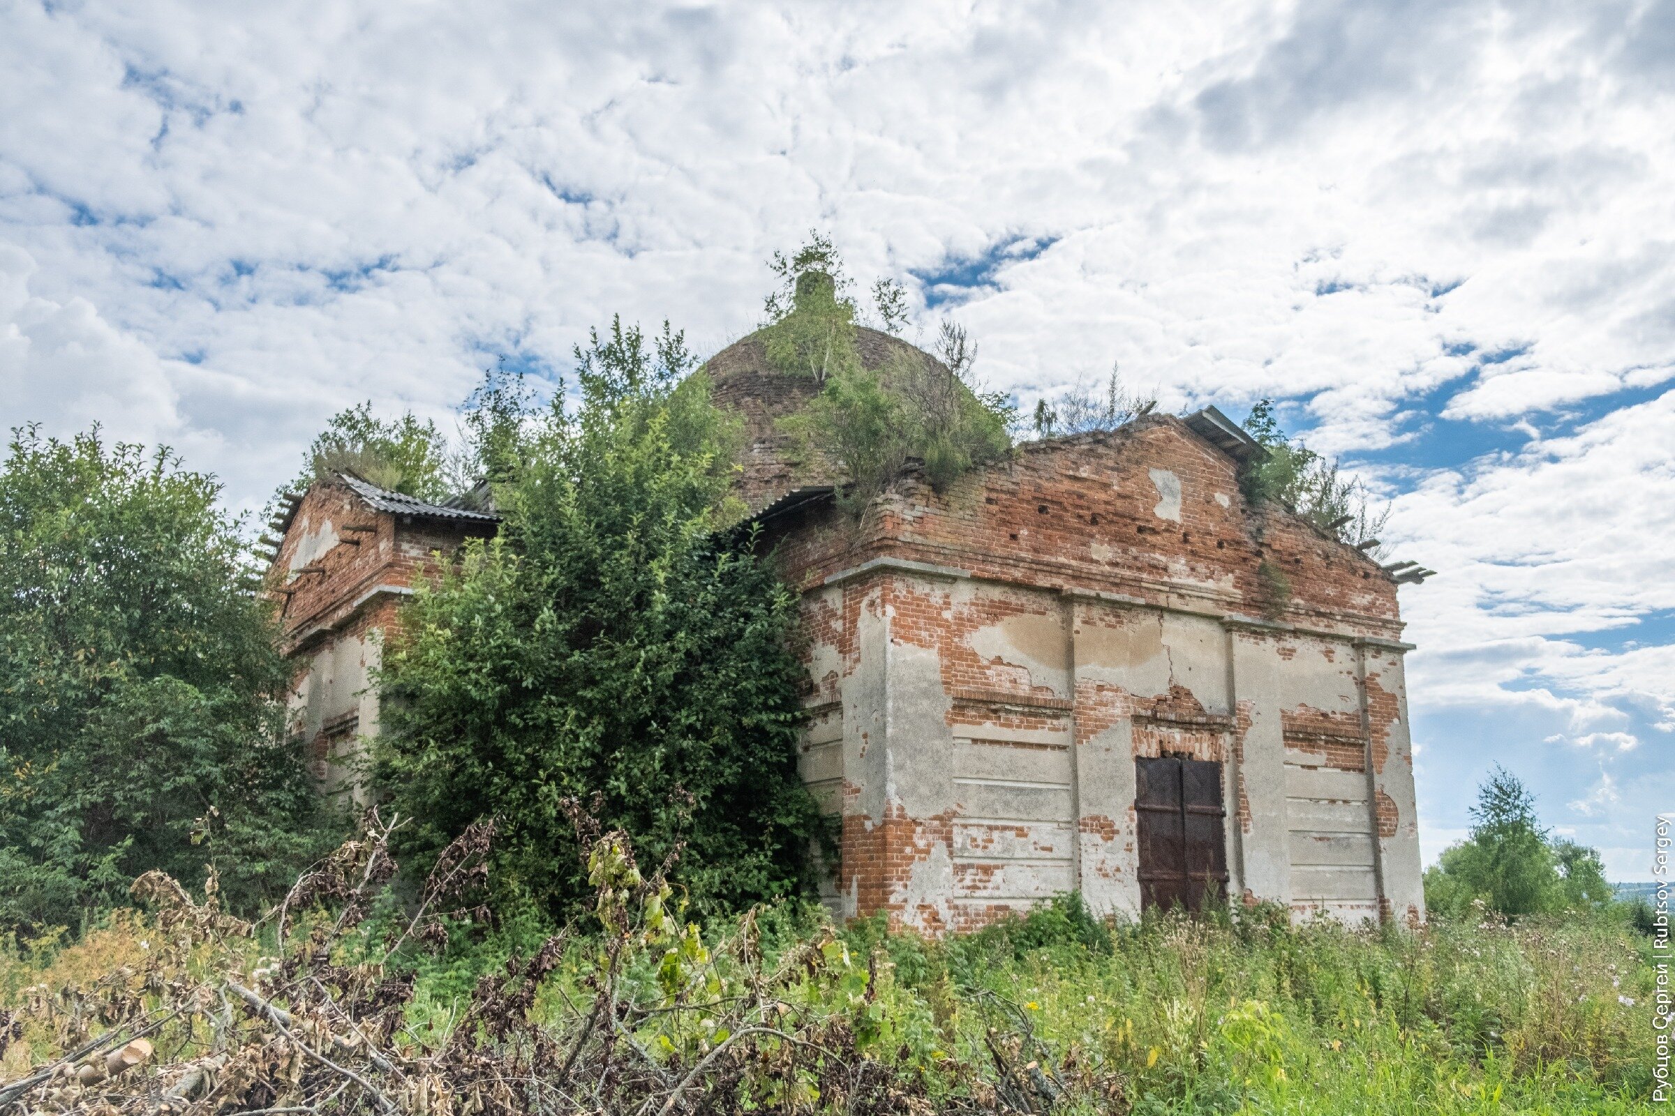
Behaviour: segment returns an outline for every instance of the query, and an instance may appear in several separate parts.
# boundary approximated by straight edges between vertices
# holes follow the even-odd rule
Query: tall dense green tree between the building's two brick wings
[[[501,818],[494,880],[563,909],[586,893],[566,798],[717,909],[807,883],[816,805],[797,776],[797,606],[735,514],[737,423],[678,333],[613,321],[576,350],[580,403],[518,425],[474,542],[404,612],[382,674],[375,778],[434,853]]]

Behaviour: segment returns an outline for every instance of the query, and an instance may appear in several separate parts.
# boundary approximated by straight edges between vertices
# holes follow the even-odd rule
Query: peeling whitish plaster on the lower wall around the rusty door
[[[1312,865],[1305,873],[1308,888],[1318,892],[1320,880],[1335,878],[1338,860],[1345,872],[1363,870],[1350,862],[1377,833],[1372,780],[1367,773],[1303,770],[1306,765],[1296,763],[1295,755],[1288,765],[1283,728],[1285,714],[1298,709],[1337,714],[1345,724],[1360,723],[1363,661],[1362,648],[1352,641],[931,574],[896,571],[889,574],[889,591],[884,584],[869,587],[859,609],[858,663],[838,664],[836,651],[817,649],[812,668],[817,676],[834,668],[849,671],[839,684],[841,768],[836,760],[827,763],[841,771],[844,811],[859,815],[868,827],[886,818],[906,823],[903,840],[913,847],[888,852],[893,858],[908,857],[910,873],[904,882],[891,883],[888,902],[899,905],[908,925],[958,924],[961,904],[1027,902],[1070,885],[1079,885],[1099,914],[1137,915],[1136,721],[1131,714],[1107,714],[1112,708],[1146,708],[1152,699],[1179,708],[1179,691],[1171,688],[1184,688],[1204,714],[1231,718],[1243,726],[1241,755],[1233,748],[1223,755],[1224,833],[1234,895],[1248,888],[1258,898],[1293,904],[1298,833],[1312,817],[1313,791],[1303,786],[1308,780],[1360,776],[1368,783],[1360,800],[1368,806],[1367,827],[1358,837],[1312,838],[1312,860],[1303,862]],[[990,594],[1013,607],[1020,599],[1038,596],[1042,607],[1007,612],[975,629],[951,622],[960,609],[983,607]],[[916,607],[930,607],[931,621],[894,616],[891,601],[908,599]],[[936,622],[938,611],[943,622]],[[1064,731],[1027,724],[1003,728],[1003,718],[992,728],[965,719],[951,724],[953,694],[943,668],[953,651],[945,642],[955,631],[965,632],[960,637],[983,668],[993,671],[997,686],[1018,693],[1020,699],[1042,699],[1044,693],[1070,698],[1079,718],[1102,711],[1104,719],[1089,716],[1089,726],[1077,733],[1080,743],[1064,751],[1054,750],[1070,738],[1069,718]],[[1377,842],[1375,863],[1395,912],[1405,914],[1412,904],[1422,917],[1400,653],[1372,649],[1368,656],[1365,669],[1400,704],[1400,716],[1385,729],[1389,758],[1377,773],[1377,790],[1397,803],[1400,823],[1394,837]],[[1084,709],[1085,701],[1095,704]],[[968,716],[965,709],[961,706],[961,718]],[[1040,716],[1050,719],[1052,714],[1037,714],[1037,721]],[[1156,741],[1159,723],[1146,724],[1147,740]],[[1161,728],[1172,731],[1169,723]],[[814,731],[829,731],[834,741],[839,740],[838,721]],[[1211,723],[1183,731],[1214,735],[1223,729]],[[816,776],[812,770],[807,775]],[[1070,803],[1062,820],[1060,811],[1047,808],[1047,800],[1060,793],[1055,788],[1062,788]],[[1245,822],[1240,818],[1241,790],[1248,805]],[[992,825],[995,818],[1017,825]],[[936,835],[926,837],[931,832]],[[945,838],[943,833],[951,835]],[[1332,907],[1330,914],[1348,920],[1377,910],[1367,902],[1340,905],[1342,910]],[[856,914],[853,887],[838,907],[843,915]]]

